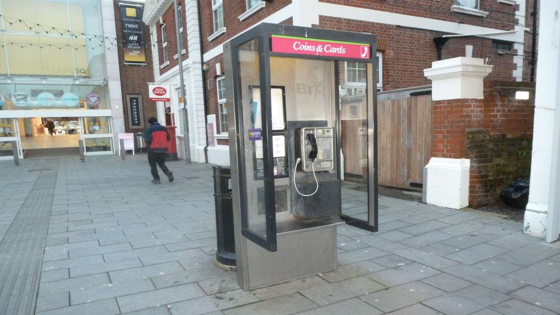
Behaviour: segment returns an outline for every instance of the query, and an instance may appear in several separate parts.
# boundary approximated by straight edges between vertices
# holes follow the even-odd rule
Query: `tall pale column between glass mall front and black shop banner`
[[[100,1],[103,20],[103,36],[116,38],[115,11],[113,1]],[[109,87],[109,104],[113,116],[114,143],[118,141],[118,133],[124,132],[123,97],[120,89],[118,46],[105,49],[105,67]],[[116,147],[116,145],[115,145]]]

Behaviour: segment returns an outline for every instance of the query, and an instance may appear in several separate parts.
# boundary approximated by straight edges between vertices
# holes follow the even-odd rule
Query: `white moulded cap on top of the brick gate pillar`
[[[483,78],[492,67],[481,58],[457,57],[432,62],[424,76],[432,80],[432,100],[483,99]]]

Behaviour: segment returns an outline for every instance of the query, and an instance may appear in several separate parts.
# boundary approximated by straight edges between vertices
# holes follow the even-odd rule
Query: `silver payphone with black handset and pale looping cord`
[[[301,196],[308,197],[319,189],[319,182],[315,172],[333,169],[333,128],[313,127],[297,128],[295,131],[296,142],[296,168],[293,170],[293,184]],[[302,194],[296,185],[296,170],[301,162],[301,170],[313,172],[317,187],[311,194]]]

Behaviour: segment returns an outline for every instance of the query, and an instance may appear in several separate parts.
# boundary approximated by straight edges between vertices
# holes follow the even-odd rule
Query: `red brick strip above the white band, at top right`
[[[458,22],[470,25],[492,27],[502,30],[513,30],[517,24],[515,10],[518,6],[498,3],[494,0],[480,0],[480,10],[489,12],[486,18],[480,18],[461,13],[451,13],[452,0],[426,1],[383,1],[383,0],[319,0],[344,6],[367,8],[385,12],[399,13],[411,16],[436,18],[437,20]]]

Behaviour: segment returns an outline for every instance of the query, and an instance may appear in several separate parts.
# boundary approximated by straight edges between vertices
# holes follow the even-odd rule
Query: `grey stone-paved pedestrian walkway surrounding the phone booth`
[[[0,314],[560,313],[560,245],[514,221],[390,197],[379,232],[338,229],[337,271],[242,291],[213,265],[211,165],[168,165],[175,182],[156,185],[145,154],[0,161]],[[49,217],[33,235],[42,265],[20,275],[14,263],[35,252],[12,261],[6,244],[31,239],[18,226],[44,230],[36,214]]]

